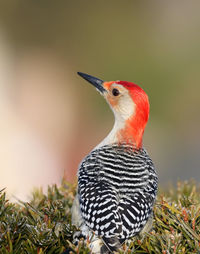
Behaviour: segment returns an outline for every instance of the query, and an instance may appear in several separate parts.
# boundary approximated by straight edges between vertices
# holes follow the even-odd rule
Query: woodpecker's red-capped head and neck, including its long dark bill
[[[115,115],[113,142],[133,144],[141,148],[142,137],[149,118],[147,94],[138,85],[127,81],[104,82],[78,72],[104,96]]]

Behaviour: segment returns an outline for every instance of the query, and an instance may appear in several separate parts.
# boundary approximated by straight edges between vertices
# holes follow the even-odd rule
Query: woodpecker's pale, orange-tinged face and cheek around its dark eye
[[[107,93],[104,94],[104,97],[113,110],[117,120],[126,121],[133,116],[135,112],[135,103],[125,87],[113,83],[106,90]]]

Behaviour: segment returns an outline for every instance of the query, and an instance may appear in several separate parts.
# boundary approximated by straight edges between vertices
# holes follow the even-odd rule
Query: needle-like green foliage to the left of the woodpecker
[[[62,253],[72,239],[70,207],[74,188],[53,186],[33,194],[30,203],[0,197],[0,253]]]

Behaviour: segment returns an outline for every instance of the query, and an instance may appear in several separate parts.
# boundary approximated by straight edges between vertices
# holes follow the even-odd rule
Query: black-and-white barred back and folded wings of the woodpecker
[[[111,251],[142,230],[156,192],[157,175],[144,149],[105,145],[93,150],[80,165],[82,217]]]

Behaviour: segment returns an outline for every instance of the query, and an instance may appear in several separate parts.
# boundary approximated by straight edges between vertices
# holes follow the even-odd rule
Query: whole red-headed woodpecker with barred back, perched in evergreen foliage
[[[149,99],[135,83],[78,75],[105,98],[115,122],[80,163],[72,205],[72,224],[80,231],[74,241],[81,235],[89,239],[92,253],[115,253],[152,227],[158,176],[142,142]]]

